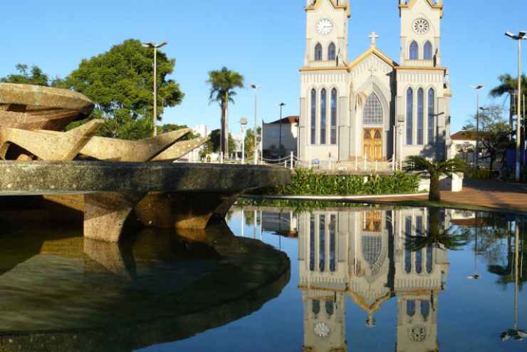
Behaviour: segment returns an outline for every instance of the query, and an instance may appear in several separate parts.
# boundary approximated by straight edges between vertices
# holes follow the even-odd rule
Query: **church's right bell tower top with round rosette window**
[[[441,66],[443,0],[399,0],[402,66]]]

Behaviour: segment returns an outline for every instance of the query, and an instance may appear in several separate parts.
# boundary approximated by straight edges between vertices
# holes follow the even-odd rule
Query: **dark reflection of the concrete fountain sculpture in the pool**
[[[23,257],[10,255],[14,239],[0,237],[1,351],[131,351],[177,341],[259,310],[290,275],[286,254],[225,225],[179,236],[146,229],[121,244],[23,233],[15,239],[31,248]]]

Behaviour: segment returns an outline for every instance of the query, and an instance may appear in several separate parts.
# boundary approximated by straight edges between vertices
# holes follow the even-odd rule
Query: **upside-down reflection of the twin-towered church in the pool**
[[[440,222],[448,220],[442,216]],[[447,279],[447,251],[405,248],[407,234],[421,236],[428,228],[427,209],[301,214],[303,351],[348,351],[346,296],[365,310],[368,327],[375,327],[382,304],[397,297],[395,351],[438,351],[438,295]]]

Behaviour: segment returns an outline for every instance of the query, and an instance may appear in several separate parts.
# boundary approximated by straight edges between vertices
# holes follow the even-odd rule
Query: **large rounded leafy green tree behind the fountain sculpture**
[[[78,68],[58,83],[76,90],[95,103],[92,118],[107,121],[101,134],[122,139],[140,139],[152,134],[154,52],[135,39],[109,51],[83,59]],[[175,60],[157,52],[157,120],[164,108],[179,105],[184,93],[167,76]]]

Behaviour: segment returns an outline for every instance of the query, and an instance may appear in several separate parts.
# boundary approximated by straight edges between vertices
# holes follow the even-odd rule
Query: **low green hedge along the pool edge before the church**
[[[395,175],[322,175],[313,170],[296,170],[291,184],[269,190],[275,195],[394,195],[414,193],[419,176],[407,172]]]

